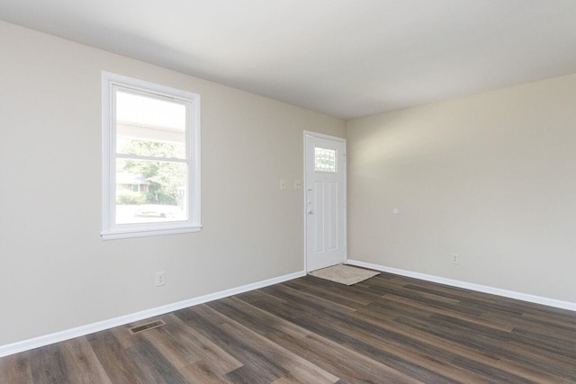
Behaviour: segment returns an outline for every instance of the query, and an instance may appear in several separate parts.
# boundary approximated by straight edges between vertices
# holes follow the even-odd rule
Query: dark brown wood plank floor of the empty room
[[[156,318],[4,357],[0,382],[576,383],[576,312],[388,273]]]

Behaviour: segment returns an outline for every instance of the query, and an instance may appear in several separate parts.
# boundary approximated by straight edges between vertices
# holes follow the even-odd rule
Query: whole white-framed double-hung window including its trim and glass
[[[103,239],[196,232],[200,95],[103,72]]]

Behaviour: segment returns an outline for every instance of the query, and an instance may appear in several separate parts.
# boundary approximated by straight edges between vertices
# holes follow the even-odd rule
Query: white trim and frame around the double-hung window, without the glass
[[[186,221],[165,223],[121,224],[115,223],[115,117],[112,116],[112,87],[120,85],[137,91],[192,102],[193,129],[186,129],[186,151],[190,173],[188,179],[189,215]],[[200,220],[200,94],[178,90],[143,80],[102,72],[102,185],[104,240],[128,237],[148,237],[198,232]],[[114,159],[114,161],[112,161]]]

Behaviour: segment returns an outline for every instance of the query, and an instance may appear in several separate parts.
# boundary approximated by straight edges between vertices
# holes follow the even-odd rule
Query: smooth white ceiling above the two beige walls
[[[0,19],[347,119],[576,72],[576,0],[0,0]]]

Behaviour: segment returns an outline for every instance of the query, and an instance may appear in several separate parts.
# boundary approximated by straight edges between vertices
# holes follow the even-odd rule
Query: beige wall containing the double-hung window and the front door
[[[103,241],[101,71],[202,95],[202,232]],[[0,345],[303,270],[302,131],[346,122],[0,22]],[[154,274],[166,271],[166,286]]]

